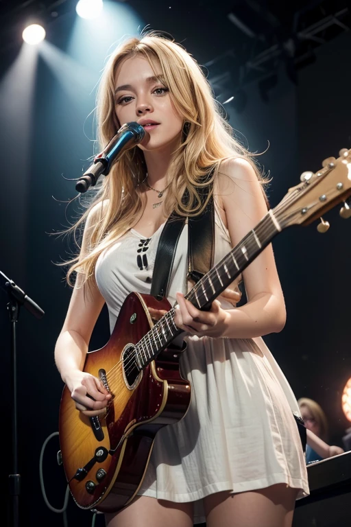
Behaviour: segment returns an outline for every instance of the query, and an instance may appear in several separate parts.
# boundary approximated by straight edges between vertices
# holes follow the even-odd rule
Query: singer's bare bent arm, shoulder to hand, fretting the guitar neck
[[[250,163],[230,159],[221,163],[216,194],[234,247],[267,213],[261,183]],[[285,301],[271,244],[243,271],[243,280],[247,303],[235,309],[221,309],[215,301],[209,312],[202,312],[177,294],[175,324],[210,337],[254,338],[281,331]]]

